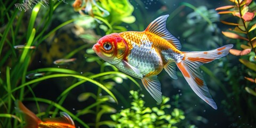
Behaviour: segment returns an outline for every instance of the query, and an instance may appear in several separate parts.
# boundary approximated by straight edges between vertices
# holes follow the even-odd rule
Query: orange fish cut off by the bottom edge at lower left
[[[17,110],[25,114],[25,128],[75,128],[73,119],[65,112],[60,112],[60,117],[44,118],[41,120],[32,111],[30,111],[22,102],[16,101]]]

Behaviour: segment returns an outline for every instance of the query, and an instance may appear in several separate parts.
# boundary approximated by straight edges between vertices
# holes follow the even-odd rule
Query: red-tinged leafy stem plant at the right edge
[[[233,55],[247,55],[247,59],[241,58],[239,61],[254,71],[254,75],[250,73],[248,74],[249,76],[256,77],[256,23],[254,21],[256,14],[255,3],[253,3],[252,0],[229,1],[233,2],[234,5],[218,7],[215,10],[220,10],[220,12],[218,12],[219,14],[233,14],[234,17],[239,18],[239,20],[238,23],[221,21],[226,25],[235,26],[235,28],[230,28],[229,31],[222,31],[222,34],[228,38],[241,39],[244,42],[244,44],[241,44],[241,49],[243,50],[231,49],[229,52]],[[250,4],[253,5],[251,6]],[[256,84],[253,78],[244,78],[247,81]],[[248,93],[256,96],[256,89],[253,91],[249,87],[245,87],[245,90]]]

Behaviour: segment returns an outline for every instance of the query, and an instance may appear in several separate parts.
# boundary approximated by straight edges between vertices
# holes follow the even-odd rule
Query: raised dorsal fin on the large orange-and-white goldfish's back
[[[180,50],[180,41],[170,34],[170,32],[166,29],[166,20],[168,17],[169,15],[162,15],[161,17],[158,17],[148,25],[145,31],[149,31],[150,33],[162,37],[176,47],[176,49]]]

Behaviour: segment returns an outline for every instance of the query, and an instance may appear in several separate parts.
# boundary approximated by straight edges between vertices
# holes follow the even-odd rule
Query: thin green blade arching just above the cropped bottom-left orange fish
[[[75,121],[79,122],[80,124],[82,124],[84,127],[88,127],[89,126],[87,124],[85,124],[81,119],[79,119],[78,117],[76,117],[73,113],[70,113],[70,111],[68,111],[66,108],[62,107],[61,105],[59,105],[58,103],[55,103],[51,100],[47,100],[47,99],[43,99],[43,98],[26,98],[26,100],[30,100],[30,101],[39,101],[39,102],[44,102],[44,103],[48,103],[49,105],[53,105],[54,107],[60,109],[61,111],[65,111],[71,118],[73,118]]]

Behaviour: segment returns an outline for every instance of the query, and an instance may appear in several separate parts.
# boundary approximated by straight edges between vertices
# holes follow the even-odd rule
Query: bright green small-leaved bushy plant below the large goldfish
[[[146,107],[142,100],[143,94],[138,91],[130,91],[133,102],[131,107],[111,115],[116,122],[115,127],[177,127],[177,124],[185,119],[184,113],[174,108],[171,113],[171,105],[167,104],[170,98],[163,96],[163,102],[158,107]],[[191,126],[194,127],[194,126]]]

